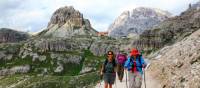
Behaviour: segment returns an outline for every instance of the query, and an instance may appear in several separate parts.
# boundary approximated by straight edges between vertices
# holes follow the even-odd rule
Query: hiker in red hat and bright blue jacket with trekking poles
[[[124,68],[128,71],[129,88],[141,88],[142,85],[142,68],[146,67],[142,55],[137,49],[132,49],[130,56],[125,62]]]

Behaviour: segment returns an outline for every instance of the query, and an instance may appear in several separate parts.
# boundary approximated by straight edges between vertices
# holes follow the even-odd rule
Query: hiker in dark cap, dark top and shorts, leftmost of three
[[[101,69],[101,75],[103,75],[104,88],[112,88],[112,85],[116,79],[116,66],[117,63],[114,58],[114,53],[112,51],[107,52],[107,58],[104,61]]]

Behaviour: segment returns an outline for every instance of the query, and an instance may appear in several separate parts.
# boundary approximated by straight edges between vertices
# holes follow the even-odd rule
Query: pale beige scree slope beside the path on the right
[[[152,55],[150,66],[163,88],[200,87],[200,30]]]

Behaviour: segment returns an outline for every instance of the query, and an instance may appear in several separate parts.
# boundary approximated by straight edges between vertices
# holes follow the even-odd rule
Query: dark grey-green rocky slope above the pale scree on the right
[[[140,38],[133,42],[133,46],[151,52],[181,41],[199,28],[200,9],[188,9],[180,16],[166,19],[151,30],[144,31]]]

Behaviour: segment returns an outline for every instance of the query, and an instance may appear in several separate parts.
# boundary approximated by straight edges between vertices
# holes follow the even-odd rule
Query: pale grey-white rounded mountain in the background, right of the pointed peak
[[[169,17],[169,12],[153,8],[139,7],[132,11],[125,11],[109,26],[109,36],[141,34]]]

